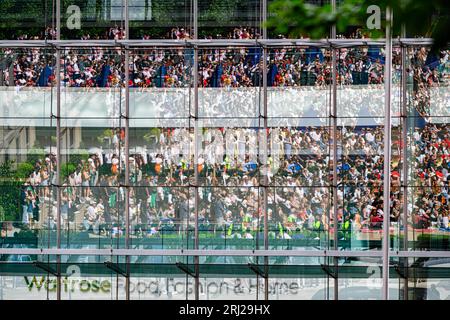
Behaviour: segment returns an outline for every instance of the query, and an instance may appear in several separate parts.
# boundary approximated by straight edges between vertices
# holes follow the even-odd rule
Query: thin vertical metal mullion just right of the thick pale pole
[[[406,38],[406,27],[402,25],[402,38]],[[407,50],[406,46],[402,45],[402,76],[401,76],[401,90],[402,90],[402,140],[403,140],[403,250],[408,251],[408,109],[406,96],[406,62]],[[406,267],[408,267],[408,258],[405,258]],[[408,273],[405,273],[404,279],[404,294],[403,298],[408,300]]]

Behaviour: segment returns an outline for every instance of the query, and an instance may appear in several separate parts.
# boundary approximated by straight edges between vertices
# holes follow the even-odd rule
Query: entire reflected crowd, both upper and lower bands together
[[[174,30],[174,34],[182,30]],[[115,33],[115,32],[112,32]],[[120,31],[119,31],[120,33]],[[239,32],[235,30],[235,34]],[[180,35],[179,35],[180,36]],[[183,36],[183,35],[181,35]],[[184,35],[185,36],[185,35]],[[178,37],[178,36],[177,36]],[[117,49],[119,50],[119,49]],[[121,87],[124,61],[120,50],[68,50],[61,57],[63,85]],[[192,55],[186,50],[141,50],[131,55],[129,86],[183,87],[190,82]],[[2,70],[4,85],[48,86],[55,81],[54,57],[39,50],[21,53],[4,49],[11,68]],[[410,50],[407,73],[412,81],[412,106],[426,124],[415,126],[408,141],[414,155],[409,181],[410,223],[415,228],[448,226],[449,130],[427,118],[430,88],[448,81],[448,51],[429,59],[425,48]],[[331,56],[327,50],[284,48],[269,55],[269,86],[328,85]],[[344,84],[381,84],[382,50],[339,51],[337,79]],[[255,87],[261,85],[259,49],[200,50],[199,85]],[[401,57],[394,52],[394,69]],[[13,83],[11,84],[11,80]],[[445,103],[443,103],[445,107]],[[395,130],[394,130],[395,132]],[[332,218],[332,136],[328,127],[269,128],[267,157],[262,156],[260,133],[252,128],[204,129],[202,151],[194,164],[193,130],[159,130],[156,142],[125,159],[125,132],[113,128],[111,144],[74,163],[64,177],[61,215],[64,224],[95,232],[123,232],[126,189],[125,166],[130,168],[129,207],[133,230],[151,234],[189,225],[194,216],[193,189],[198,174],[199,221],[202,228],[224,235],[252,238],[267,212],[273,236],[289,238],[311,231],[380,229],[383,209],[383,129],[342,126],[338,133],[338,221]],[[159,136],[158,136],[159,135]],[[400,139],[397,137],[397,139]],[[395,140],[394,140],[395,141]],[[141,141],[134,142],[136,146]],[[400,148],[401,143],[397,147]],[[66,159],[70,162],[70,159]],[[23,223],[39,221],[55,226],[56,184],[54,154],[35,163],[21,197]],[[391,221],[402,214],[401,161],[392,162]],[[268,184],[267,208],[261,186]],[[44,214],[45,212],[45,214]],[[113,226],[107,228],[105,226]],[[103,226],[103,227],[102,227]],[[151,226],[151,227],[149,227]],[[103,229],[102,229],[103,228]],[[237,231],[236,231],[236,230]],[[108,231],[109,230],[109,231]],[[345,237],[346,234],[341,233]]]

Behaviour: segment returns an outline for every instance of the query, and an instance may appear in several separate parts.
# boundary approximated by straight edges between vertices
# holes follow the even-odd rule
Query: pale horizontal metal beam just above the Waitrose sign
[[[94,256],[252,256],[252,257],[382,257],[381,251],[343,250],[184,250],[184,249],[16,249],[0,254]],[[450,251],[392,251],[391,257],[450,257]]]

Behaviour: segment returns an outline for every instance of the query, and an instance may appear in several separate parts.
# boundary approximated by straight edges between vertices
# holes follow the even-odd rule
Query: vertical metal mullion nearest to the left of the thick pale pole
[[[336,0],[331,1],[332,10],[336,12]],[[336,39],[336,24],[333,24],[331,27],[331,38]],[[336,71],[337,71],[337,62],[336,62],[336,51],[333,47],[331,50],[331,70],[332,70],[332,91],[331,91],[331,116],[333,121],[333,248],[334,250],[338,249],[338,218],[337,218],[337,188],[338,188],[338,176],[337,176],[337,162],[338,162],[338,154],[337,154],[337,79],[336,79]],[[337,257],[333,258],[334,267],[337,269],[339,261]],[[339,299],[339,277],[336,276],[334,278],[334,300]]]

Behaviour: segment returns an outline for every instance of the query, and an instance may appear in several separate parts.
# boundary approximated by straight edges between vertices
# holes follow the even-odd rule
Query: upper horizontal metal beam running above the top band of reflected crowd
[[[430,38],[398,38],[392,40],[393,46],[429,46],[433,44]],[[90,48],[90,47],[355,47],[384,46],[384,39],[211,39],[211,40],[0,40],[0,48]]]

